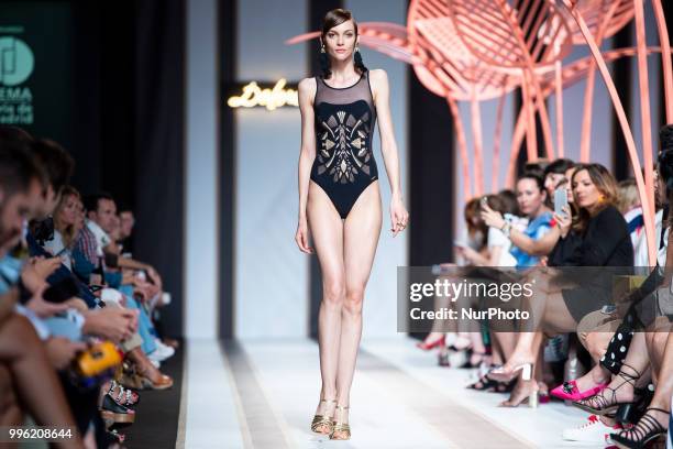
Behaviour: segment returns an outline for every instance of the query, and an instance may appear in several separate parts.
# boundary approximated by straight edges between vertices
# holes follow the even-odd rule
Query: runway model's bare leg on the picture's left
[[[322,302],[318,313],[318,343],[320,349],[320,397],[336,399],[336,366],[341,339],[341,313],[345,296],[343,267],[343,221],[334,205],[317,184],[310,182],[307,219],[320,271],[322,273]],[[335,403],[318,404],[317,415],[334,415]],[[320,426],[320,432],[328,432],[328,426]]]

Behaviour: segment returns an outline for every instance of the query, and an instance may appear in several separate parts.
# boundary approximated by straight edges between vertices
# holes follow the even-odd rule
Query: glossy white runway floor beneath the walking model
[[[309,429],[320,377],[311,340],[190,341],[178,448],[602,448],[561,439],[586,414],[561,403],[498,408],[406,337],[366,340],[351,394],[350,441]]]

